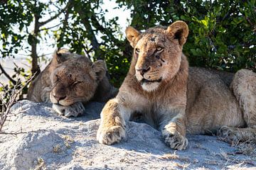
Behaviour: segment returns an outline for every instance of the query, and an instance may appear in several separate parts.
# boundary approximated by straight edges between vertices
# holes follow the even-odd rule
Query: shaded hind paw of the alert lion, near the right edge
[[[237,143],[241,140],[241,133],[237,128],[223,126],[217,132],[218,139],[229,143]]]

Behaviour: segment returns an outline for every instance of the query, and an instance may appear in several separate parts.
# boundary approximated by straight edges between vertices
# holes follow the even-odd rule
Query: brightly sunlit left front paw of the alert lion
[[[100,127],[97,131],[97,140],[101,144],[112,145],[125,137],[124,127],[115,125],[110,128]]]

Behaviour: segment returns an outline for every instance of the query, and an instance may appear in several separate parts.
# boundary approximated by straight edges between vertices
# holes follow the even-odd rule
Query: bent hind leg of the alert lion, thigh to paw
[[[238,99],[247,128],[220,128],[219,134],[225,141],[245,141],[256,137],[256,74],[247,69],[239,70],[230,89]]]

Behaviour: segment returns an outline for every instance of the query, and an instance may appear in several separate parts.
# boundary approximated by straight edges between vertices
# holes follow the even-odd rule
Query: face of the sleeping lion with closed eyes
[[[92,63],[82,57],[59,64],[50,76],[50,101],[61,106],[89,101],[105,73],[102,60]]]

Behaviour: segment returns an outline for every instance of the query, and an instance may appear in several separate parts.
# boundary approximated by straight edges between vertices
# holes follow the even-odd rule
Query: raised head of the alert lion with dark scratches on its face
[[[182,47],[188,36],[188,26],[176,21],[169,27],[156,26],[144,33],[129,26],[125,33],[134,47],[134,69],[145,91],[154,91],[162,81],[169,81],[178,72]]]

